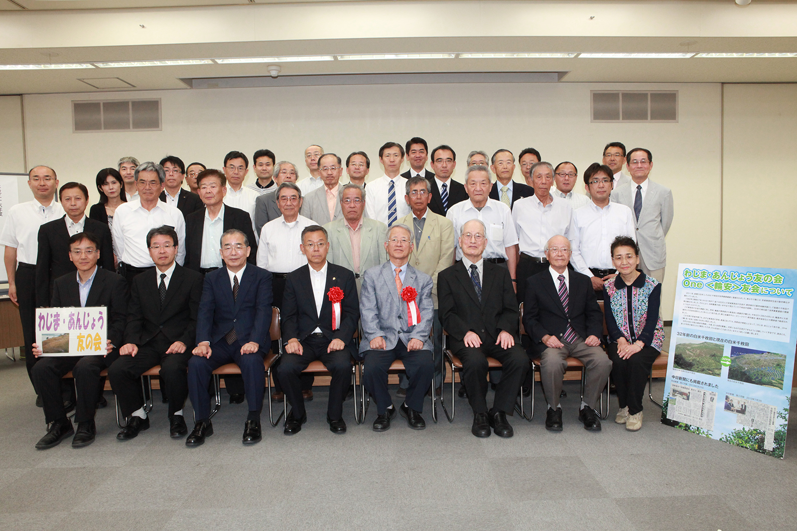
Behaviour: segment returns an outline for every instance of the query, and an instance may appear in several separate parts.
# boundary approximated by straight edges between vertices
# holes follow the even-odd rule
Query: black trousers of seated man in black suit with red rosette
[[[307,369],[311,361],[319,360],[332,373],[329,382],[329,402],[327,415],[332,420],[343,416],[344,396],[351,381],[351,351],[348,346],[341,350],[327,352],[330,341],[327,338],[308,337],[301,342],[302,355],[282,354],[280,366],[277,367],[277,380],[285,391],[285,400],[291,404],[293,416],[297,419],[304,416],[304,398],[302,392],[302,371]],[[312,375],[311,375],[312,376]]]

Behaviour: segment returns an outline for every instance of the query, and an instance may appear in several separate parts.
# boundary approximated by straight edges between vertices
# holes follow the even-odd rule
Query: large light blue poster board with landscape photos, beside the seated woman
[[[681,264],[662,424],[783,458],[797,271]]]

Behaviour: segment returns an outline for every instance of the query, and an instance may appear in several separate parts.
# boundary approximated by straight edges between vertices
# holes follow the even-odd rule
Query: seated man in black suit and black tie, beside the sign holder
[[[149,428],[140,378],[155,365],[160,365],[161,386],[169,396],[169,433],[177,439],[188,432],[183,420],[186,370],[196,341],[202,275],[175,262],[178,245],[174,228],[153,228],[147,234],[147,247],[155,268],[133,279],[124,345],[108,368],[122,416],[128,419],[116,435],[119,440],[133,439]]]

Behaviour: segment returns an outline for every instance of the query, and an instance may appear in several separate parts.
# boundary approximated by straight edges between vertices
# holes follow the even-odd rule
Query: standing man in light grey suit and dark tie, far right
[[[673,192],[648,175],[653,169],[653,154],[644,147],[634,147],[626,155],[631,182],[611,194],[611,200],[634,212],[639,244],[639,266],[646,275],[664,282],[667,265],[665,236],[673,224]]]

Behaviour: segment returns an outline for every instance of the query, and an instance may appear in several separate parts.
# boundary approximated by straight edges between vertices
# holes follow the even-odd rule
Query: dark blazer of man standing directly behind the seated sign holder
[[[104,210],[104,208],[103,208]],[[53,282],[61,275],[77,271],[69,260],[69,231],[63,217],[49,221],[39,227],[39,254],[36,263],[36,306],[50,306],[53,295]],[[107,271],[114,271],[113,243],[108,222],[86,218],[84,232],[91,232],[100,240],[100,260],[97,265]]]

